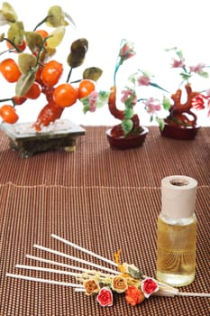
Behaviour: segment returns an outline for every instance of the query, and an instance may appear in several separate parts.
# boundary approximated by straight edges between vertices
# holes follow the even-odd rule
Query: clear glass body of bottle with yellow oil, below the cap
[[[196,215],[190,218],[158,218],[157,279],[184,286],[195,278]]]

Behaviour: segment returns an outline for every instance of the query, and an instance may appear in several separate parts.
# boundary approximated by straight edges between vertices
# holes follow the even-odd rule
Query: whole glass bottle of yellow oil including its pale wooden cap
[[[171,286],[184,286],[195,279],[196,187],[195,179],[182,175],[161,181],[157,279]]]

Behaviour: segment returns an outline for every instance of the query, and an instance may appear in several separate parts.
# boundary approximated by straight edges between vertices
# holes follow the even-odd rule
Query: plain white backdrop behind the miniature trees
[[[71,42],[80,37],[87,38],[89,48],[85,63],[73,70],[71,79],[80,79],[88,67],[96,66],[103,70],[103,76],[98,80],[97,89],[109,89],[113,85],[114,65],[122,39],[134,43],[136,56],[127,60],[117,76],[117,86],[123,87],[126,78],[138,69],[148,70],[155,75],[155,81],[171,93],[175,92],[180,83],[177,72],[170,69],[171,55],[166,48],[177,46],[183,51],[187,64],[196,65],[203,61],[210,65],[209,30],[210,18],[208,0],[59,0],[56,1],[23,1],[10,0],[18,18],[23,21],[26,31],[32,31],[34,26],[47,15],[51,5],[60,5],[77,25],[77,29],[69,26],[65,39],[58,47],[55,58],[66,64]],[[44,27],[44,26],[42,26]],[[7,30],[1,26],[1,33]],[[5,50],[5,43],[0,43],[0,51]],[[4,59],[5,55],[0,59]],[[67,67],[65,67],[65,70]],[[209,69],[210,70],[210,69]],[[63,81],[66,80],[64,73]],[[61,83],[61,82],[60,82]],[[210,79],[195,81],[195,89],[210,88]],[[194,88],[194,86],[193,86]],[[154,95],[154,90],[152,90]],[[14,85],[5,82],[0,76],[1,98],[14,96]],[[139,98],[148,97],[148,91],[141,88]],[[160,91],[155,90],[155,94]],[[154,95],[156,97],[156,95]],[[161,98],[161,95],[157,95]],[[27,101],[17,108],[20,121],[35,121],[41,107],[46,104],[45,98]],[[149,125],[149,116],[143,108],[136,106],[141,122]],[[165,114],[162,114],[164,116]],[[205,111],[197,112],[201,125],[210,125],[210,118]],[[82,112],[82,105],[77,103],[65,109],[62,117],[68,117],[79,125],[113,125],[114,117],[110,115],[107,106],[95,113]],[[154,123],[152,123],[154,124]]]

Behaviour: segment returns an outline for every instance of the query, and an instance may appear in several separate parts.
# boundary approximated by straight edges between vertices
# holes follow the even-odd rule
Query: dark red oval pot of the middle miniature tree
[[[111,147],[116,149],[130,149],[140,147],[144,143],[149,130],[147,127],[144,126],[142,128],[142,133],[140,133],[139,135],[132,135],[128,137],[114,137],[111,135],[112,128],[108,129],[105,132],[105,135]]]

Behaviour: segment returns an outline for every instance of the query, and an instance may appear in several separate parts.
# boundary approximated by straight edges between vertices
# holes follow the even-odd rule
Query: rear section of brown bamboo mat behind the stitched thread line
[[[177,141],[151,126],[141,148],[123,152],[110,149],[105,126],[86,129],[75,153],[41,153],[28,159],[19,158],[0,131],[0,183],[153,187],[165,176],[180,173],[200,185],[210,184],[210,127],[201,128],[193,141]]]

